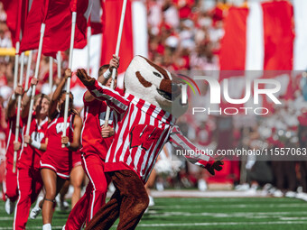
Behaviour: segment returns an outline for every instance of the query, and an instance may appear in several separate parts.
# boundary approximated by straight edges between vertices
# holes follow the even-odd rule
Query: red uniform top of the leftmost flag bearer
[[[23,120],[22,119],[20,119],[19,127],[20,128],[19,128],[18,141],[20,143],[23,143]],[[6,158],[6,166],[8,164],[13,166],[15,129],[16,129],[16,115],[14,115],[13,117],[11,117],[11,118],[9,118],[7,120],[7,127],[6,127],[6,131],[5,131],[5,142],[6,142],[5,158]],[[23,146],[22,146],[22,148],[23,148]],[[17,159],[19,159],[19,155],[20,155],[21,151],[17,152]]]

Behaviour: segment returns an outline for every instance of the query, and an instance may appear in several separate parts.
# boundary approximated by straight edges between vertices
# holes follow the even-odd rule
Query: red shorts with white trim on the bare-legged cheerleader
[[[45,152],[41,158],[41,169],[54,170],[60,178],[70,179],[72,155],[72,152],[62,155]]]

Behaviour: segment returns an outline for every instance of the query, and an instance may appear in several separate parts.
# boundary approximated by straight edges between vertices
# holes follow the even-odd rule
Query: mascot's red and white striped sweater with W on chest
[[[105,171],[134,170],[145,183],[165,143],[196,150],[174,126],[175,118],[162,108],[130,94],[122,97],[98,81],[88,86],[88,90],[100,100],[107,99],[108,106],[115,113],[116,133],[107,152]],[[186,157],[201,166],[209,161],[209,156]]]

